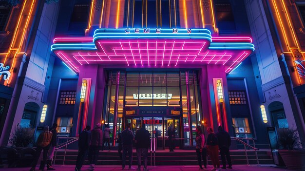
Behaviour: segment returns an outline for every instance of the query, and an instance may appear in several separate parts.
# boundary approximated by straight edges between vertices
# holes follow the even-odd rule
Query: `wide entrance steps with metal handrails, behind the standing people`
[[[257,151],[260,164],[273,164],[271,153],[268,150]],[[246,165],[247,159],[244,150],[231,150],[231,160],[233,165]],[[55,164],[57,165],[75,165],[76,163],[76,150],[67,150],[65,161],[63,162],[64,152],[57,151]],[[220,159],[220,156],[219,156]],[[254,151],[248,151],[249,164],[257,164]],[[126,158],[128,163],[128,157]],[[86,162],[85,162],[86,163]],[[221,163],[221,162],[220,162]],[[98,165],[121,165],[117,151],[112,152],[99,152],[97,161]],[[137,164],[136,152],[133,150],[133,165]],[[151,165],[151,153],[148,153],[148,165]],[[191,150],[175,150],[169,152],[168,150],[157,150],[155,152],[155,165],[197,165],[197,156],[195,151]],[[210,157],[208,157],[208,165],[211,165]]]

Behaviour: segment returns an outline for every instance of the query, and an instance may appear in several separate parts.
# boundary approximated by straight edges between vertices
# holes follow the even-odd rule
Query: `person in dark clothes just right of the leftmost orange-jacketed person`
[[[55,170],[52,166],[52,160],[53,160],[53,154],[55,151],[55,147],[56,147],[56,139],[57,139],[57,123],[54,123],[52,125],[52,129],[51,129],[51,133],[52,133],[52,139],[50,142],[50,148],[49,148],[49,152],[48,152],[48,158],[47,158],[47,170]]]

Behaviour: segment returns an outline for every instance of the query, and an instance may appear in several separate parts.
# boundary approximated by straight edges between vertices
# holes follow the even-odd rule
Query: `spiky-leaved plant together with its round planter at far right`
[[[305,171],[305,150],[297,129],[277,129],[279,153],[288,169]]]

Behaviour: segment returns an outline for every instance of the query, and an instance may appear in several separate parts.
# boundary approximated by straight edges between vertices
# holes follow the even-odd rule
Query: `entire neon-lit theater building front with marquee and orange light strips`
[[[0,143],[15,125],[53,122],[68,136],[109,124],[112,137],[145,123],[163,149],[170,127],[181,149],[194,145],[197,125],[222,125],[262,148],[269,126],[297,128],[304,138],[304,5],[24,0],[5,7]]]

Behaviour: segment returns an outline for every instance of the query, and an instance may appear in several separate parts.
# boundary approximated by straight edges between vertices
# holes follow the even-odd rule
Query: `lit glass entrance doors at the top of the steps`
[[[135,135],[136,131],[145,124],[145,128],[151,133],[151,137],[156,138],[156,149],[168,149],[168,129],[173,128],[175,132],[175,147],[182,148],[182,131],[181,131],[181,117],[173,116],[154,116],[154,117],[126,117],[126,123],[131,123],[131,130]]]

